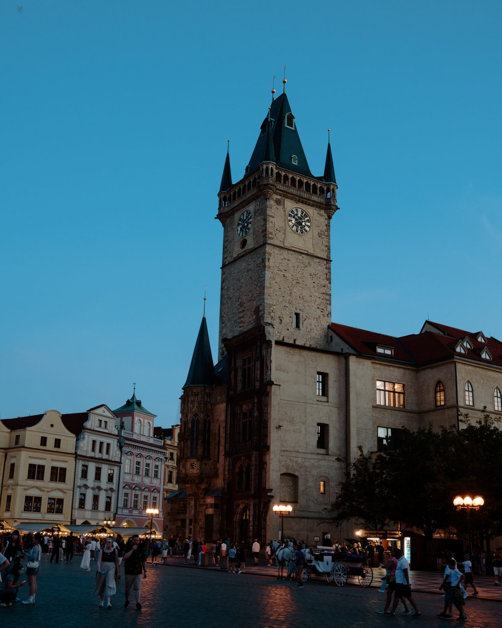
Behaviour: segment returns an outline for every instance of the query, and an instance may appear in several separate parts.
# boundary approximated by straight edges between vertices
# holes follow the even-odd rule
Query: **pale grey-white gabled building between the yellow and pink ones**
[[[120,479],[117,416],[101,405],[63,414],[62,420],[76,436],[72,523],[102,524],[114,519]]]

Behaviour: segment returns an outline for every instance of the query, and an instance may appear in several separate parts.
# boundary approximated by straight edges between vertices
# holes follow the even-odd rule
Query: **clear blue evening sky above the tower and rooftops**
[[[333,320],[502,337],[502,4],[0,1],[1,418],[176,418],[218,341],[227,138],[243,175],[275,74],[341,209]]]

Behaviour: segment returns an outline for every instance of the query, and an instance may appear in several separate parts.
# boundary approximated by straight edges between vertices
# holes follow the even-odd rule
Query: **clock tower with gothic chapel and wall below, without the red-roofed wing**
[[[328,141],[324,174],[312,175],[286,80],[278,98],[274,92],[237,183],[227,151],[217,216],[219,361],[213,365],[203,317],[181,398],[179,490],[165,500],[164,526],[175,536],[264,543],[278,536],[279,501],[293,506],[290,536],[319,536],[328,487],[341,479],[339,408],[327,390],[317,394],[317,372],[332,370],[333,157]],[[330,447],[323,428],[321,450],[319,421],[333,435]]]

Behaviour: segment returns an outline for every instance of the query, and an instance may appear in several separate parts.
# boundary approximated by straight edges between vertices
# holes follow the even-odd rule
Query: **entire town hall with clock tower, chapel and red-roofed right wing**
[[[274,92],[272,92],[274,94]],[[284,93],[272,100],[240,181],[223,169],[218,362],[203,317],[181,398],[179,490],[164,531],[212,541],[354,539],[326,515],[358,447],[399,447],[403,426],[502,419],[502,343],[425,321],[393,337],[331,322],[336,180],[328,136],[314,176]],[[361,537],[362,538],[362,537]]]

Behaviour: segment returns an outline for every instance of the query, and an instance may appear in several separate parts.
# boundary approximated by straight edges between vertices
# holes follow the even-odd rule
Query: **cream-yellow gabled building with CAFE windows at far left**
[[[75,434],[61,414],[0,421],[4,448],[0,518],[20,522],[71,523],[75,480]]]

